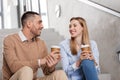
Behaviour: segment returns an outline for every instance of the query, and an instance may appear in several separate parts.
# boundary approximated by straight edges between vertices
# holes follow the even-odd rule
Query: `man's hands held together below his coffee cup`
[[[49,68],[55,67],[56,64],[60,61],[61,56],[59,51],[53,51],[46,57],[46,64]]]

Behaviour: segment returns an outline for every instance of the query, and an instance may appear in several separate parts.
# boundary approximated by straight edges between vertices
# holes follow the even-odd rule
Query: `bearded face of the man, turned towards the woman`
[[[34,37],[40,36],[41,31],[43,29],[42,19],[39,15],[35,15],[34,20],[31,24],[30,32]]]

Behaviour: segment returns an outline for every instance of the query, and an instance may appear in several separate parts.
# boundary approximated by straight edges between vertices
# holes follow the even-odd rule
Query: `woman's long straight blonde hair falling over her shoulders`
[[[72,17],[70,19],[70,22],[72,20],[79,21],[80,25],[83,27],[81,44],[83,44],[83,45],[86,45],[86,44],[90,45],[89,34],[88,34],[88,29],[87,29],[87,25],[86,25],[85,19],[83,19],[82,17]],[[75,43],[75,39],[73,37],[71,37],[71,40],[70,40],[70,50],[71,50],[73,55],[77,55],[76,43]]]

